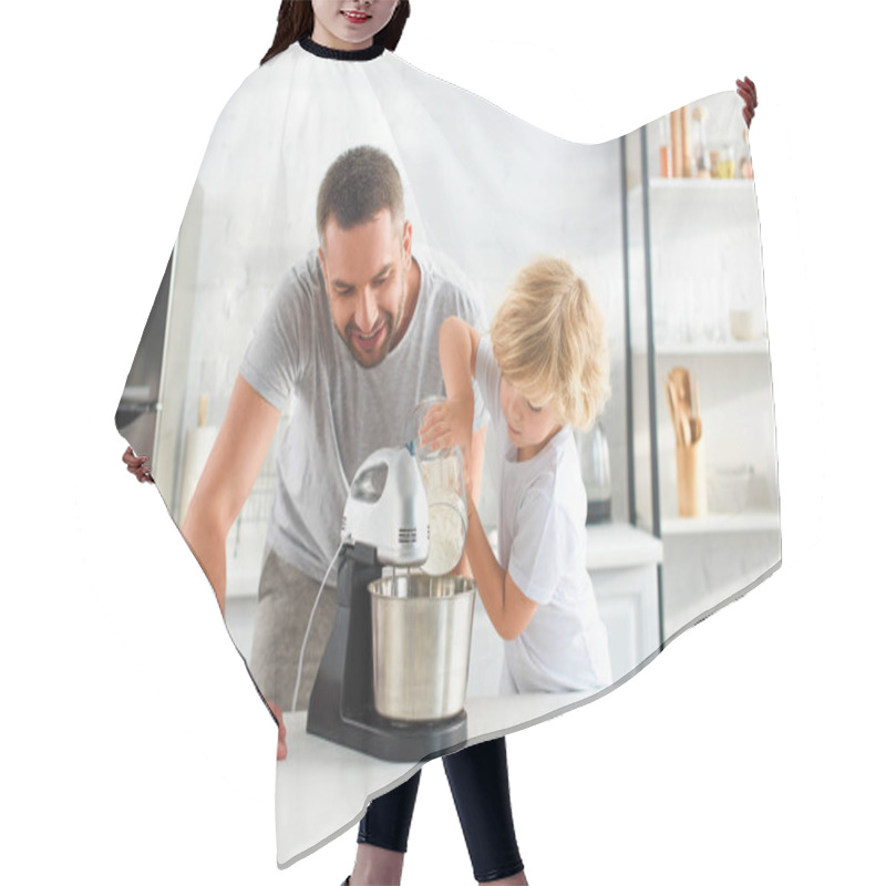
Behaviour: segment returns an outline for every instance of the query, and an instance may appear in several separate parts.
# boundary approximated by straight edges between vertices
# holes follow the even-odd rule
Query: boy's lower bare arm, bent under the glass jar
[[[477,583],[483,608],[504,640],[519,637],[535,616],[538,604],[530,600],[505,571],[490,546],[474,502],[467,502],[465,550]]]

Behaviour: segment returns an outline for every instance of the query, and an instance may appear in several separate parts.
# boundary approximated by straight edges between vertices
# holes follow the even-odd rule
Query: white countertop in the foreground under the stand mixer
[[[468,698],[467,741],[495,738],[587,701],[584,692]],[[277,764],[277,863],[308,855],[362,817],[369,800],[404,782],[414,763],[389,763],[309,735],[307,713],[284,715],[288,753]]]

